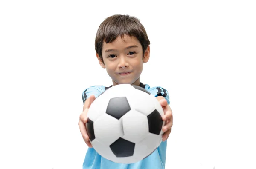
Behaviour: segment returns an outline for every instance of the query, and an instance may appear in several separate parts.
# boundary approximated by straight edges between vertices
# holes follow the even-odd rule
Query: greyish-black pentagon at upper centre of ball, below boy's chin
[[[126,97],[115,97],[109,100],[106,113],[119,120],[130,110],[131,107]]]

